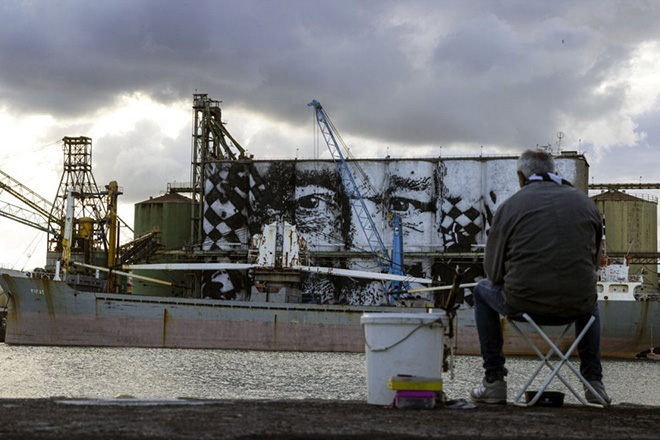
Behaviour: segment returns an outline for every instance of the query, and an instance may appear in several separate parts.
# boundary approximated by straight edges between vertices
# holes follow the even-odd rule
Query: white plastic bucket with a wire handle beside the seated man
[[[442,377],[447,316],[442,313],[365,313],[367,403],[389,405],[394,390],[387,378],[397,375]]]

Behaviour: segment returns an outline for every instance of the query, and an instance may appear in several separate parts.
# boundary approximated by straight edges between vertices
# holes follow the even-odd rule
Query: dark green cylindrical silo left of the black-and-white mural
[[[135,233],[139,236],[153,230],[160,232],[162,251],[181,250],[190,241],[192,200],[180,194],[165,194],[135,205]],[[159,261],[163,262],[163,261]],[[171,288],[133,280],[133,294],[179,296],[188,284],[185,275],[170,271],[135,271],[138,275],[170,281]]]

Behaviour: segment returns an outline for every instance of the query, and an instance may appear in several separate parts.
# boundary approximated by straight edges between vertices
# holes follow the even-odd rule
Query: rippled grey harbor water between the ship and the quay
[[[481,359],[459,356],[443,375],[449,399],[468,399]],[[511,358],[509,399],[536,366]],[[614,403],[660,406],[660,362],[606,360]],[[0,343],[0,398],[365,400],[366,357],[353,353],[23,347]],[[571,381],[578,387],[577,381]],[[568,392],[555,381],[551,389]],[[567,394],[567,402],[576,400]]]

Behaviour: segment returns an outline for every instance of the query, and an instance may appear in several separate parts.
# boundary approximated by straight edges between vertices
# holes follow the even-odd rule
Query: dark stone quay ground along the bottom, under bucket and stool
[[[0,399],[0,438],[657,439],[660,407],[402,410],[320,400]]]

